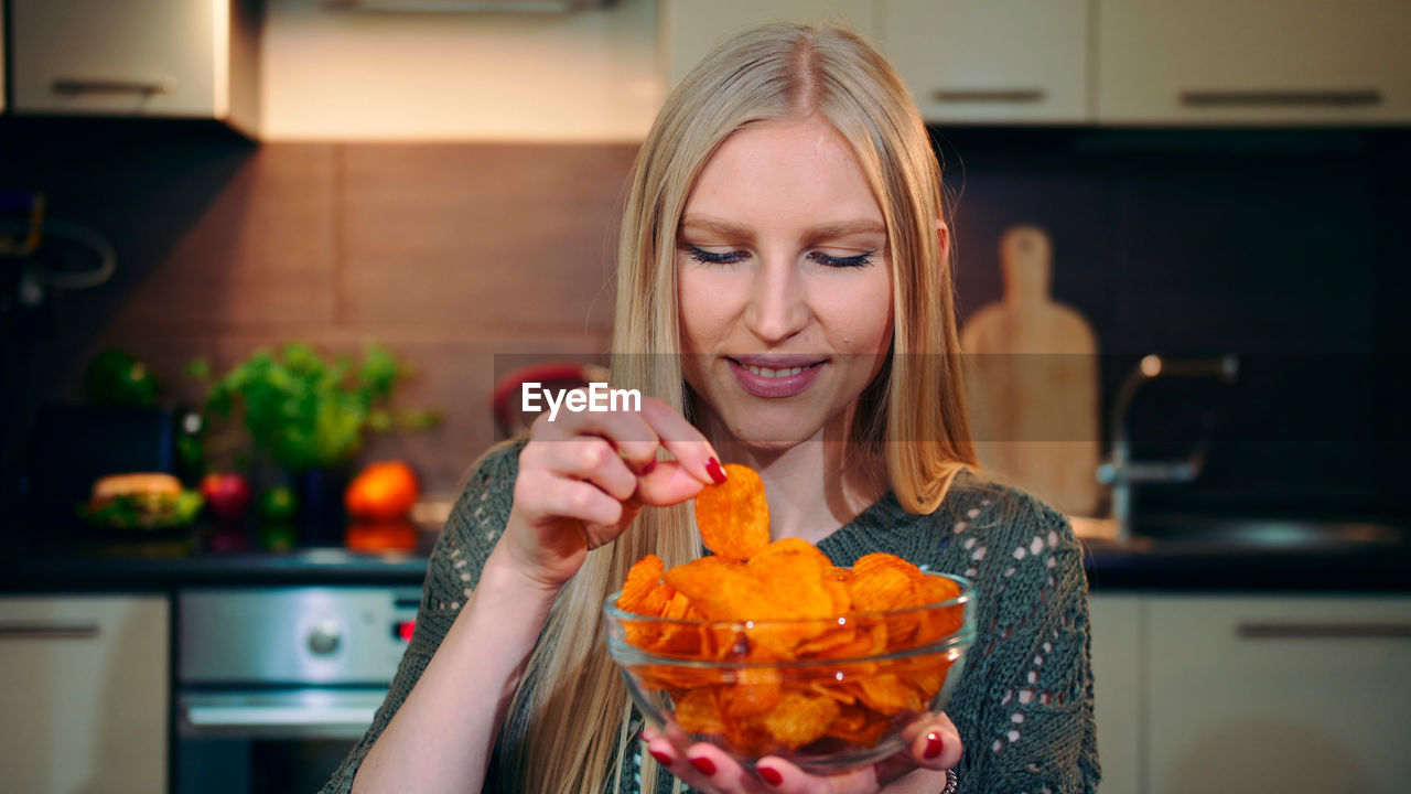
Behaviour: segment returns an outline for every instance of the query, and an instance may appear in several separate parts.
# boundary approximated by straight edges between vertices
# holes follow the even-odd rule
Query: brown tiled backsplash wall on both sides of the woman
[[[223,369],[286,339],[375,340],[419,370],[402,401],[446,422],[368,456],[406,456],[446,492],[492,441],[494,355],[605,349],[635,146],[58,129],[20,136],[31,155],[6,158],[0,188],[44,189],[51,216],[107,235],[119,273],[65,295],[37,343],[7,335],[7,380],[28,387],[7,390],[11,417],[73,394],[106,346],[193,400],[179,370],[198,355]],[[1407,473],[1387,374],[1411,338],[1404,131],[955,129],[941,147],[962,314],[999,297],[1003,229],[1034,223],[1053,239],[1054,297],[1098,332],[1105,396],[1147,352],[1245,357],[1211,468],[1185,489],[1195,503],[1388,509]],[[1180,432],[1161,425],[1143,431],[1156,446]],[[7,427],[10,463],[21,427]]]

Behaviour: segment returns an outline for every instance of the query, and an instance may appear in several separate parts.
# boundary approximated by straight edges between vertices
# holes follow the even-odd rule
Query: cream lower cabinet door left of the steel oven
[[[0,791],[166,790],[166,599],[0,599]]]

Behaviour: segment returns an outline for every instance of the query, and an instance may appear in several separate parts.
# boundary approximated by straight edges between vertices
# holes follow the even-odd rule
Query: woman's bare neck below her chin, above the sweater
[[[727,461],[759,472],[769,497],[769,535],[818,543],[888,490],[886,461],[848,444],[852,417],[847,414],[813,438],[783,449],[749,446],[714,417],[701,424]]]

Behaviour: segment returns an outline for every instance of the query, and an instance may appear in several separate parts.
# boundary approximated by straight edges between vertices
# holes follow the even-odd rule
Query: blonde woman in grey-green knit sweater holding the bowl
[[[392,692],[325,791],[1094,791],[1081,551],[972,473],[948,260],[930,140],[871,47],[772,25],[707,57],[622,225],[612,381],[653,397],[540,417],[481,459]],[[642,555],[701,555],[690,499],[721,461],[761,472],[775,538],[975,581],[979,637],[909,752],[746,771],[642,725],[600,608]]]

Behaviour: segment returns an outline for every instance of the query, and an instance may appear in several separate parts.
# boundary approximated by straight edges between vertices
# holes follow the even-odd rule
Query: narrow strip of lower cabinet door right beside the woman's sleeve
[[[1094,595],[1088,599],[1092,632],[1094,713],[1102,791],[1136,794],[1141,721],[1143,599],[1136,595]]]

